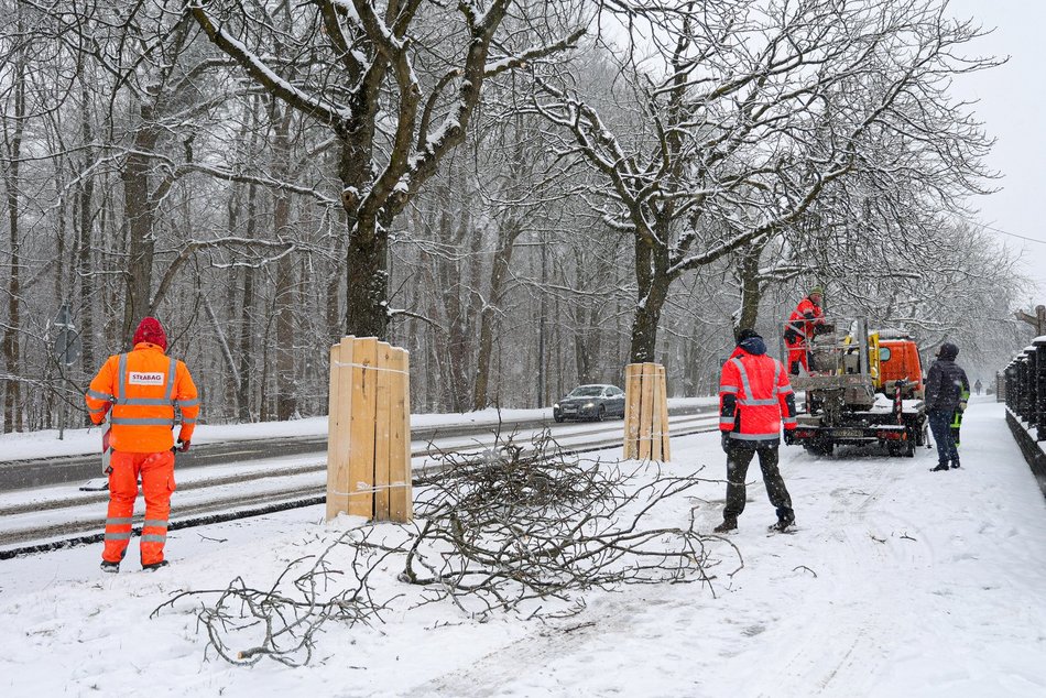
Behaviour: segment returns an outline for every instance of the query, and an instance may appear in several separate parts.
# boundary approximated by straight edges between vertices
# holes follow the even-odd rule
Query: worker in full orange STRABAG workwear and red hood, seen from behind
[[[145,521],[140,544],[142,569],[155,570],[167,561],[171,494],[174,492],[175,410],[182,413],[177,450],[189,449],[199,399],[188,369],[167,357],[167,336],[160,321],[144,318],[134,331],[134,348],[109,357],[87,391],[91,422],[109,413],[109,513],[101,568],[120,570],[131,539],[131,519],[141,478]]]

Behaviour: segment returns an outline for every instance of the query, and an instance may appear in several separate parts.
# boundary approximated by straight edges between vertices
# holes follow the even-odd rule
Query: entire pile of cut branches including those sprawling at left
[[[253,588],[237,577],[226,589],[181,592],[153,615],[200,599],[198,629],[218,656],[299,666],[327,621],[381,622],[381,611],[406,596],[401,587],[375,598],[379,584],[394,589],[391,579],[379,582],[379,570],[400,557],[399,579],[421,589],[417,606],[450,601],[480,620],[505,611],[573,615],[593,588],[711,587],[708,536],[695,531],[693,510],[680,506],[680,495],[704,481],[696,476],[671,476],[657,463],[625,472],[582,460],[547,432],[529,445],[509,437],[481,455],[438,460],[434,475],[416,481],[412,523],[352,528],[326,538],[320,554],[291,561],[272,585]],[[675,511],[661,512],[671,505]]]

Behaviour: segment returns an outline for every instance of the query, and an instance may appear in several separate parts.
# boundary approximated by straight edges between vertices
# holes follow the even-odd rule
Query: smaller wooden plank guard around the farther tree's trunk
[[[665,367],[624,367],[624,457],[672,460],[668,449],[668,391]]]

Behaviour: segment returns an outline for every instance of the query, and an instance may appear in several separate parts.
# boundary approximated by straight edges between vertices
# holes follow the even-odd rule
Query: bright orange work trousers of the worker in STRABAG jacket
[[[167,520],[171,516],[171,494],[174,492],[174,454],[128,454],[112,451],[109,461],[109,513],[106,517],[106,547],[101,559],[119,563],[131,542],[131,520],[138,498],[138,480],[142,480],[145,497],[145,522],[142,525],[142,565],[163,561],[163,545],[167,539]]]

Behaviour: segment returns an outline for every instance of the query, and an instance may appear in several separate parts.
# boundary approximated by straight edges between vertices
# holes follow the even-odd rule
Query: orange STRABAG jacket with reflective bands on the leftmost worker
[[[178,438],[193,438],[199,399],[185,363],[143,341],[133,351],[109,357],[85,396],[90,419],[101,424],[112,408],[113,450],[154,454],[174,445],[175,407],[182,413]]]

